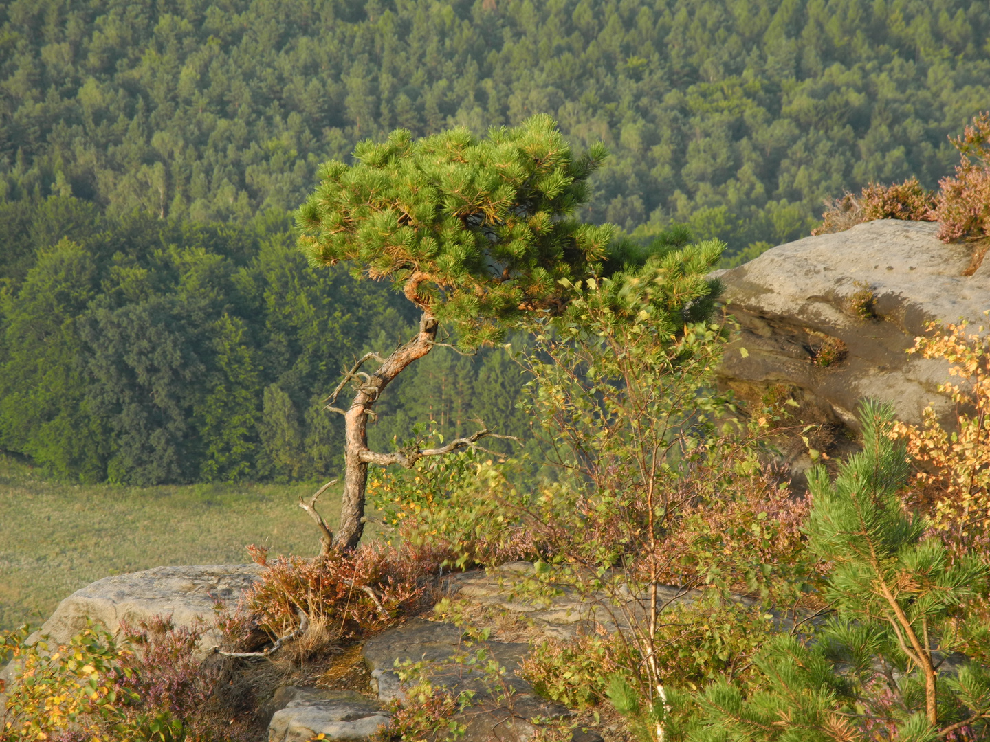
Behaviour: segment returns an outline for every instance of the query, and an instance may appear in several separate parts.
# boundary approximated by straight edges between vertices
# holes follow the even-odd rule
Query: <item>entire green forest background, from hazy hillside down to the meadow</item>
[[[990,100],[975,0],[16,0],[0,25],[0,445],[85,481],[336,467],[319,400],[412,318],[308,267],[287,214],[361,139],[549,113],[612,153],[585,220],[739,259],[846,189],[935,187]],[[432,354],[372,436],[520,432],[520,384],[504,351]]]

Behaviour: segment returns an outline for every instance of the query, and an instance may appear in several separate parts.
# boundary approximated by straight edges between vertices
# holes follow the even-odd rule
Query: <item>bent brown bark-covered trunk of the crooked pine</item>
[[[341,503],[341,525],[337,530],[337,548],[348,551],[356,548],[364,532],[364,492],[367,487],[368,410],[381,396],[385,387],[413,361],[434,346],[437,339],[437,319],[428,311],[420,318],[420,331],[416,337],[397,348],[381,364],[377,371],[360,385],[345,415],[344,449],[344,498]]]

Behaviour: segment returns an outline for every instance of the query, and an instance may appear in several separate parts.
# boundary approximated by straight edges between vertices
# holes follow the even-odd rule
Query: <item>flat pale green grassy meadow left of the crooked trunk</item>
[[[315,554],[318,531],[297,506],[314,484],[65,485],[0,456],[0,629],[34,625],[107,575],[169,564],[248,561],[245,545]],[[332,527],[340,490],[321,512]]]

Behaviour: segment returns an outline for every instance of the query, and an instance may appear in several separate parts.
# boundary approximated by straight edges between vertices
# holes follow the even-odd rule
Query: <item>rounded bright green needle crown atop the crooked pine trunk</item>
[[[485,139],[399,129],[358,144],[353,166],[323,166],[300,245],[314,263],[353,261],[355,276],[390,280],[462,344],[491,342],[506,321],[559,309],[565,281],[598,269],[612,228],[573,213],[605,154],[599,144],[574,157],[548,116]]]

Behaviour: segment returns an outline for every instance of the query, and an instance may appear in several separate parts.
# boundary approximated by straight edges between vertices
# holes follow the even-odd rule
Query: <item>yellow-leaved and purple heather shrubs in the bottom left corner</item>
[[[122,641],[89,624],[66,645],[24,643],[8,632],[4,654],[21,664],[8,689],[3,739],[11,742],[161,742],[243,739],[243,725],[212,702],[217,672],[194,657],[200,628],[167,618],[125,627]],[[0,659],[4,659],[0,657]]]

